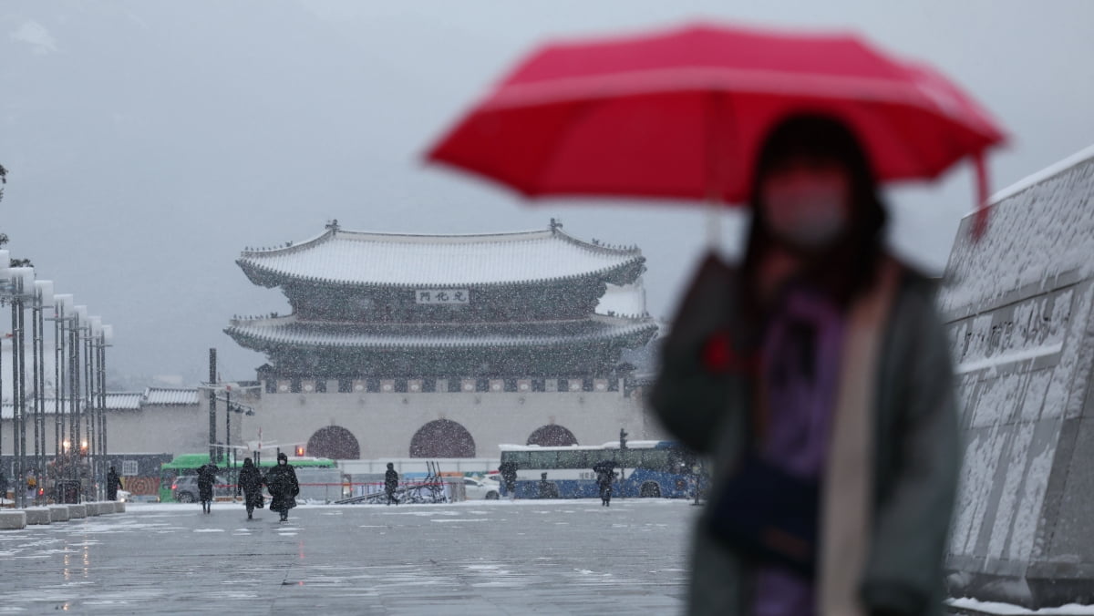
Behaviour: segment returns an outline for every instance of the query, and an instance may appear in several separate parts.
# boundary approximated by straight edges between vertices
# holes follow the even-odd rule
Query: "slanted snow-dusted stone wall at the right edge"
[[[1043,605],[1074,592],[1061,577],[1094,590],[1094,460],[1076,445],[1094,362],[1092,195],[1094,149],[1004,191],[981,241],[970,220],[958,231],[939,297],[965,442],[948,557],[965,588],[952,592]]]

